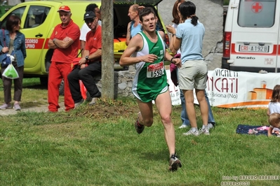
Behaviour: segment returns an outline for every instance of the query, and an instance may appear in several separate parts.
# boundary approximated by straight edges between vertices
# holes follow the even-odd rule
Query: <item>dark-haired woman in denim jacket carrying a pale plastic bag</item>
[[[13,108],[15,110],[20,110],[20,99],[22,95],[22,79],[23,79],[23,65],[26,57],[25,49],[25,35],[20,32],[20,17],[17,15],[11,15],[8,17],[6,22],[6,29],[0,30],[0,62],[4,57],[4,54],[12,55],[14,60],[12,62],[16,71],[18,71],[19,78],[13,80],[14,84],[14,104]],[[1,73],[6,69],[6,66],[1,65]],[[1,110],[11,108],[11,87],[12,80],[2,76],[3,85],[4,85],[4,101],[5,103],[0,106]]]

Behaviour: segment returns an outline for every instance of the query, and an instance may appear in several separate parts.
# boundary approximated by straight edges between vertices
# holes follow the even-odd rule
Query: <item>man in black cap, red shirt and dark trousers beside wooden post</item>
[[[79,106],[84,101],[81,96],[79,80],[84,83],[86,90],[91,95],[89,105],[95,104],[95,99],[101,96],[101,92],[93,80],[94,76],[101,74],[101,26],[98,25],[98,17],[92,11],[85,13],[84,20],[91,31],[86,34],[85,50],[79,60],[79,65],[68,75],[69,87],[75,106]]]

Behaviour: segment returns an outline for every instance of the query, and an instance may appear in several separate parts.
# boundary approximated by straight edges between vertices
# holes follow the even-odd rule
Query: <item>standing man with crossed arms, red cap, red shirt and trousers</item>
[[[61,24],[58,24],[48,41],[48,48],[54,50],[51,66],[48,72],[48,110],[57,112],[59,87],[64,79],[65,110],[74,108],[74,101],[69,90],[67,80],[71,72],[73,59],[78,55],[80,29],[71,19],[71,10],[68,6],[60,6],[58,9]]]

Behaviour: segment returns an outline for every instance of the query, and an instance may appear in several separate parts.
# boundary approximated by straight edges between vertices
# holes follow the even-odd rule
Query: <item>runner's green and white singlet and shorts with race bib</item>
[[[139,62],[133,80],[132,92],[143,102],[156,99],[156,96],[168,90],[166,71],[164,69],[165,45],[158,31],[156,43],[149,41],[143,31],[139,32],[143,38],[143,48],[133,53],[133,57],[154,54],[158,57],[153,63]]]

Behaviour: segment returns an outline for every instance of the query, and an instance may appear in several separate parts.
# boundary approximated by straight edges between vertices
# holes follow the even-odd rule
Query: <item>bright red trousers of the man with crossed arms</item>
[[[48,71],[48,110],[57,112],[60,106],[58,105],[59,87],[61,80],[64,80],[64,104],[65,110],[74,108],[74,101],[69,89],[67,76],[72,71],[71,64],[62,62],[51,62]]]

